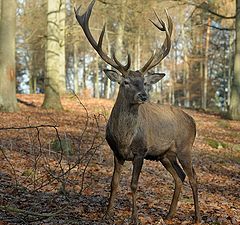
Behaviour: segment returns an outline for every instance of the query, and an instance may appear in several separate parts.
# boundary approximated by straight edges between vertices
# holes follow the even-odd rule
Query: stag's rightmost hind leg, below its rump
[[[187,152],[191,152],[191,151],[189,151],[188,149]],[[199,202],[198,202],[198,184],[197,184],[197,176],[192,166],[191,154],[179,154],[177,157],[185,173],[189,178],[189,183],[192,189],[193,200],[194,200],[195,223],[199,223],[201,220],[201,217],[200,217]]]

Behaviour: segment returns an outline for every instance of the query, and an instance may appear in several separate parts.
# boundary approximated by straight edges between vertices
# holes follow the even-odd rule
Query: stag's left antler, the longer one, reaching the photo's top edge
[[[102,42],[103,42],[103,37],[104,37],[104,33],[105,33],[105,25],[103,26],[102,32],[100,34],[98,43],[94,40],[91,31],[89,30],[89,18],[91,16],[92,13],[92,9],[93,6],[95,4],[96,0],[93,0],[90,5],[88,6],[87,11],[83,14],[83,15],[79,15],[79,11],[81,6],[79,6],[77,9],[74,8],[75,11],[75,16],[76,19],[79,23],[79,25],[82,27],[83,32],[85,33],[89,43],[92,45],[92,47],[97,51],[97,53],[99,54],[99,56],[109,65],[111,65],[112,67],[114,67],[115,69],[117,69],[119,72],[121,72],[124,75],[127,74],[127,71],[129,70],[130,66],[131,66],[131,58],[130,55],[128,54],[128,61],[127,64],[124,66],[122,65],[116,58],[115,53],[113,54],[113,59],[111,59],[106,53],[104,53],[104,51],[102,50]]]

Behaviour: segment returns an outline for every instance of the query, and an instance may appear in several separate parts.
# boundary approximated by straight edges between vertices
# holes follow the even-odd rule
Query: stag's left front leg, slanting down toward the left
[[[120,163],[118,159],[114,156],[114,171],[113,171],[112,182],[111,182],[111,193],[110,193],[110,198],[109,198],[105,217],[108,217],[110,215],[111,210],[113,208],[113,203],[114,203],[114,199],[116,198],[123,163],[124,162]]]

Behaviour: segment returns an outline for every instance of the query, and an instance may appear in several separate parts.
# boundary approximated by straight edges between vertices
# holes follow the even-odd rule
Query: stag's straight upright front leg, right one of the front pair
[[[143,158],[135,156],[133,160],[133,173],[131,181],[131,191],[132,191],[132,222],[133,224],[138,224],[138,214],[136,205],[136,192],[138,187],[138,178],[142,169]]]

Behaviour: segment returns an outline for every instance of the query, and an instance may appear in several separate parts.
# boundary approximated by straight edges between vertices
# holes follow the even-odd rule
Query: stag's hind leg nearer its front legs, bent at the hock
[[[176,160],[176,155],[171,157],[168,156],[164,157],[163,159],[161,159],[161,163],[166,168],[166,170],[172,175],[175,182],[175,189],[172,197],[172,202],[170,205],[169,212],[166,216],[166,219],[170,219],[176,213],[177,203],[179,200],[179,195],[182,190],[185,174]]]

